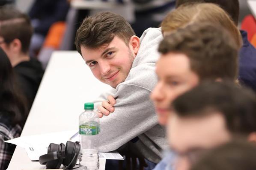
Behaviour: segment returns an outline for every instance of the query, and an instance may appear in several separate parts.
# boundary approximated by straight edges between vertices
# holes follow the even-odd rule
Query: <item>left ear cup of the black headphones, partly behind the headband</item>
[[[61,144],[51,143],[48,147],[48,153],[55,152],[55,151],[57,151],[57,153],[65,152],[65,145],[63,143]],[[63,162],[63,158],[58,158],[53,161],[48,161],[45,164],[45,166],[49,169],[59,169],[62,162]]]

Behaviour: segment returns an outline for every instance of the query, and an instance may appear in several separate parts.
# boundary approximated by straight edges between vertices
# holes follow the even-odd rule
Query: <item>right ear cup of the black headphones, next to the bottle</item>
[[[70,168],[74,167],[77,162],[77,157],[79,155],[79,152],[80,152],[79,142],[67,141],[66,150],[65,150],[66,157],[63,160],[63,165],[68,166],[70,164],[69,165]],[[73,159],[73,161],[72,161],[72,159]]]

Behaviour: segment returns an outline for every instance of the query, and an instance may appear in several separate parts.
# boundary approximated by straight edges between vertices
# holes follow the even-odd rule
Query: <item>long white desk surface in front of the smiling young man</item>
[[[98,81],[78,52],[54,52],[21,136],[78,130],[78,116],[85,102],[93,101],[110,86]],[[30,161],[25,150],[16,147],[8,170],[45,169]],[[100,170],[105,160],[100,160]]]

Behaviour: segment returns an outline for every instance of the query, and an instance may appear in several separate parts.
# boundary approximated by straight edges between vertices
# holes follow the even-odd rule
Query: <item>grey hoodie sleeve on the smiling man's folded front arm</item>
[[[100,119],[99,151],[116,150],[158,124],[150,92],[136,85],[119,87],[115,112]]]

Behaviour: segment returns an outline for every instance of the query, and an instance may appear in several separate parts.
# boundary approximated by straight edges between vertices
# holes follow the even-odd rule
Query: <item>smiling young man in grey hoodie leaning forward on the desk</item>
[[[161,160],[167,142],[149,98],[157,83],[155,64],[161,40],[157,28],[147,29],[138,38],[123,17],[110,12],[85,18],[77,30],[77,51],[93,75],[113,87],[97,100],[102,102],[99,110],[108,115],[101,115],[99,151],[126,144],[138,157],[153,163]]]

